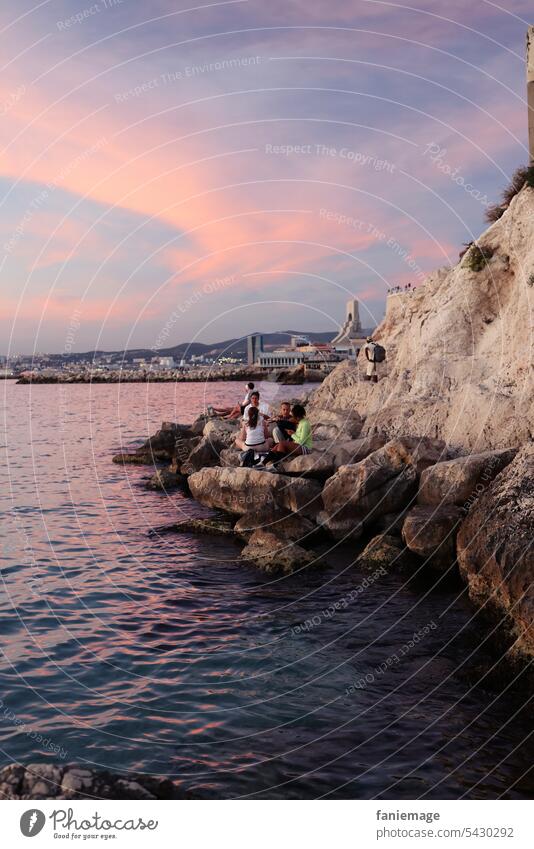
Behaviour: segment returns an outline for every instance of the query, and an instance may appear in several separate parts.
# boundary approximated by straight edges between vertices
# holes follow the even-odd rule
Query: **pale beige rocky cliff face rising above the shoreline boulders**
[[[388,298],[375,338],[387,351],[378,384],[364,364],[338,366],[312,410],[354,411],[362,435],[427,435],[459,453],[523,444],[534,433],[534,190],[454,268]],[[480,270],[475,270],[479,268]]]

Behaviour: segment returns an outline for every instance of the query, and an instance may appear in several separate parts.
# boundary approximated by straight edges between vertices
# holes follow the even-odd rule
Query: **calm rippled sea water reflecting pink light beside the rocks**
[[[153,533],[209,511],[112,454],[239,384],[1,393],[2,763],[142,770],[216,797],[532,795],[531,716],[473,686],[463,591],[363,589],[347,548],[266,578],[232,541]]]

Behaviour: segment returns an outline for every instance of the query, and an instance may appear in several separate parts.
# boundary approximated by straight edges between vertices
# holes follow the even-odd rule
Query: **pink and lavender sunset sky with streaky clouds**
[[[2,3],[0,353],[379,321],[528,159],[529,8]]]

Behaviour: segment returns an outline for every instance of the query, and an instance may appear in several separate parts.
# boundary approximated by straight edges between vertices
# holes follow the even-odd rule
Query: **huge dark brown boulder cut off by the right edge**
[[[479,605],[505,617],[513,653],[534,657],[534,444],[489,485],[458,532],[460,572]]]

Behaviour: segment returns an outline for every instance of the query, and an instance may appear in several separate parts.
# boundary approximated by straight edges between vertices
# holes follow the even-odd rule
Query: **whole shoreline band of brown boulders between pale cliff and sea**
[[[462,582],[506,632],[510,668],[530,660],[533,444],[459,453],[427,436],[362,436],[355,411],[312,403],[309,416],[313,452],[283,461],[276,473],[241,468],[237,424],[205,417],[164,422],[113,460],[153,466],[148,488],[180,489],[217,511],[165,530],[232,535],[243,544],[241,559],[266,573],[320,568],[322,549],[343,544],[359,551],[361,569]]]

